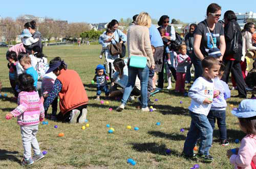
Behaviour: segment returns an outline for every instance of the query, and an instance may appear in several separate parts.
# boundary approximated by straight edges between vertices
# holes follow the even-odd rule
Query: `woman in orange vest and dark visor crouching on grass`
[[[84,123],[87,115],[88,96],[83,83],[75,70],[67,69],[67,64],[56,57],[50,61],[46,74],[53,71],[57,76],[53,90],[44,103],[47,111],[50,104],[59,96],[60,113],[57,119],[61,122]]]

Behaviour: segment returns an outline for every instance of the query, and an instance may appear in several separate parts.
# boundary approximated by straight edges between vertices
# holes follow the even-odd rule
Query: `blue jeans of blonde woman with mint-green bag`
[[[126,105],[126,102],[133,90],[136,77],[137,75],[139,76],[140,79],[140,95],[141,95],[141,102],[142,108],[147,107],[147,81],[148,81],[148,72],[149,69],[146,66],[145,68],[135,68],[135,67],[128,67],[128,75],[129,75],[129,80],[128,83],[124,89],[123,93],[123,98],[122,98],[122,104]]]

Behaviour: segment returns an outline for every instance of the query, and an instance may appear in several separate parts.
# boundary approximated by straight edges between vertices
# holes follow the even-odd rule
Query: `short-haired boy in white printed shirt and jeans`
[[[204,162],[212,162],[214,158],[209,154],[212,142],[212,128],[207,118],[211,108],[212,99],[219,95],[214,93],[214,82],[220,69],[220,62],[214,57],[205,57],[202,60],[203,75],[199,77],[188,91],[191,104],[188,107],[191,116],[190,129],[184,143],[183,154],[185,157],[197,157]],[[200,138],[198,154],[193,152]]]

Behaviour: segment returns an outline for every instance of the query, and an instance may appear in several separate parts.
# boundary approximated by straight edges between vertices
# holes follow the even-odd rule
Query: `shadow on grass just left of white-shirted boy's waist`
[[[188,110],[184,107],[173,107],[170,105],[154,105],[154,108],[157,109],[163,115],[166,114],[175,114],[175,115],[188,115]]]

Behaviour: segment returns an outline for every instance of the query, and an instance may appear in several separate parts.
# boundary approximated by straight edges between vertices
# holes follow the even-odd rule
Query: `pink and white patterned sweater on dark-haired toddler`
[[[36,91],[22,91],[18,94],[18,107],[11,114],[17,117],[18,125],[33,126],[45,117],[45,109]]]

